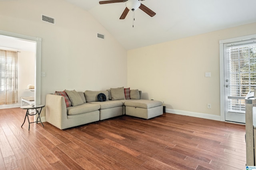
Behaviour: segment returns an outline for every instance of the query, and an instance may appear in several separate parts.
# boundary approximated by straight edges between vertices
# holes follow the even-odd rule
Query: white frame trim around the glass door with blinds
[[[220,40],[220,121],[225,121],[224,44],[256,38],[256,34]]]

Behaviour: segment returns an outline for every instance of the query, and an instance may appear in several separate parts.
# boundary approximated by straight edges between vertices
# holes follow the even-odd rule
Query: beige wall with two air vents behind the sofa
[[[56,24],[41,21],[42,14]],[[42,104],[55,90],[127,85],[126,50],[88,12],[64,0],[0,1],[0,30],[42,38]]]

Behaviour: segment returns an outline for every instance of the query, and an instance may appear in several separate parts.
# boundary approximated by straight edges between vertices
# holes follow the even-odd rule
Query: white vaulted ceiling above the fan
[[[256,0],[144,0],[156,15],[136,10],[134,27],[132,11],[119,20],[124,2],[66,1],[92,14],[127,50],[256,22]]]

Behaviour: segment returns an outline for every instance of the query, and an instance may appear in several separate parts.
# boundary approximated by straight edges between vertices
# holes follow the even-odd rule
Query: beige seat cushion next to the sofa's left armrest
[[[95,111],[100,109],[100,105],[98,104],[81,104],[79,106],[72,106],[72,107],[67,107],[67,114],[68,115],[78,115],[82,113],[88,113],[91,111]]]

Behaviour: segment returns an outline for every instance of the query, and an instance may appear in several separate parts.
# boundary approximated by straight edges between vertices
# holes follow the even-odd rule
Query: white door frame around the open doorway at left
[[[8,31],[0,30],[0,35],[14,37],[18,39],[22,39],[25,41],[32,41],[36,43],[36,59],[35,59],[35,104],[41,103],[41,45],[42,45],[42,38],[39,37],[32,37],[29,35],[22,35],[18,33],[12,33]]]

